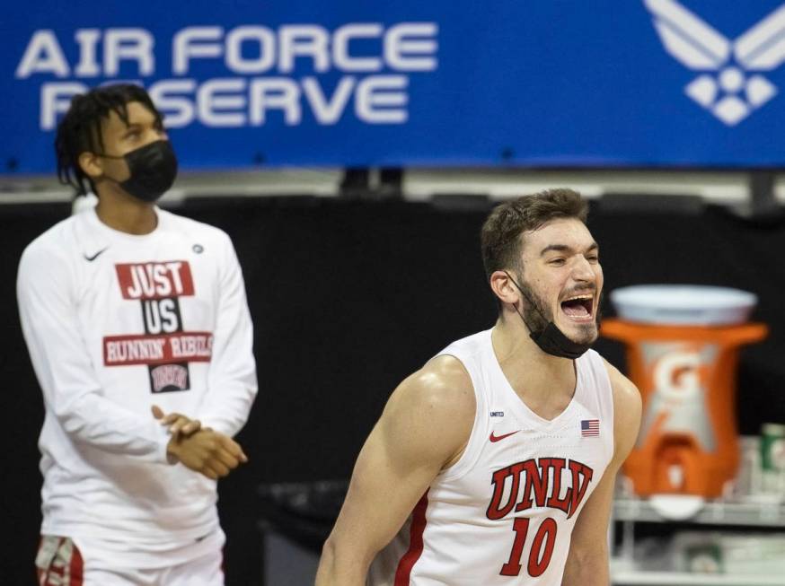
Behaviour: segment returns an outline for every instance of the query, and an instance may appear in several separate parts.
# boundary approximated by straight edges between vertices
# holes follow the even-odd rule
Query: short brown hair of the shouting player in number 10
[[[556,218],[576,218],[586,223],[588,206],[577,191],[546,189],[531,196],[507,201],[482,224],[482,264],[490,278],[494,271],[520,267],[520,236]]]

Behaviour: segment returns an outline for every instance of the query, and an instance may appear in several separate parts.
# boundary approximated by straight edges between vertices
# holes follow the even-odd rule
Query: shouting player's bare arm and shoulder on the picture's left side
[[[442,468],[463,452],[474,421],[469,375],[438,357],[401,383],[360,451],[346,501],[324,544],[317,586],[363,586]]]

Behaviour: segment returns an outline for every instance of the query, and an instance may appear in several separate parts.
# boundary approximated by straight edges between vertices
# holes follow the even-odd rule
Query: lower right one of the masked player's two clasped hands
[[[189,436],[172,435],[166,453],[179,460],[183,466],[213,480],[227,476],[241,462],[244,464],[248,461],[239,443],[209,427]]]

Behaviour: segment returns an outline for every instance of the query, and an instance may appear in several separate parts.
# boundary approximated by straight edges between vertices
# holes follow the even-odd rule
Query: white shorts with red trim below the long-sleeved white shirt
[[[184,564],[137,570],[91,567],[71,538],[41,536],[35,558],[39,586],[224,586],[218,549]]]

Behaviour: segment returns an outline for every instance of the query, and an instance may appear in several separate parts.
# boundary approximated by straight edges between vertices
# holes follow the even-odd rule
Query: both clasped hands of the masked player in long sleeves
[[[153,416],[161,424],[168,425],[172,434],[166,453],[191,470],[216,480],[248,461],[239,443],[224,433],[203,428],[197,419],[179,413],[164,415],[156,405]]]

